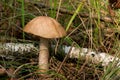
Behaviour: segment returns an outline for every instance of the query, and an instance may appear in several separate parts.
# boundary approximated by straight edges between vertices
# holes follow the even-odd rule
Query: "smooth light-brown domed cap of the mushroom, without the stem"
[[[32,19],[23,30],[43,38],[60,38],[66,35],[64,28],[55,19],[47,16]]]

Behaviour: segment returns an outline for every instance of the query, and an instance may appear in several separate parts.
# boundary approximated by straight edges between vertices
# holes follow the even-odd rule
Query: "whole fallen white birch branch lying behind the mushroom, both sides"
[[[70,48],[71,46],[63,46],[63,50],[66,54],[69,52]],[[37,55],[38,48],[31,43],[0,43],[1,57],[13,58],[13,53],[17,52],[17,54],[24,54],[26,52],[29,53],[33,51]],[[69,58],[89,58],[89,60],[94,63],[102,63],[102,66],[107,66],[114,60],[116,62],[118,61],[118,65],[120,64],[120,59],[118,57],[114,57],[104,52],[95,52],[94,50],[88,48],[72,47],[72,50],[69,53]]]

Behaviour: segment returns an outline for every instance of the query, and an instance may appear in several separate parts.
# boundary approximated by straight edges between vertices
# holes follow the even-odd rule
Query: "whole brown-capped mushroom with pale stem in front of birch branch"
[[[47,16],[39,16],[26,24],[23,31],[40,37],[38,72],[46,72],[49,69],[48,39],[61,38],[66,35],[64,28],[55,19]]]

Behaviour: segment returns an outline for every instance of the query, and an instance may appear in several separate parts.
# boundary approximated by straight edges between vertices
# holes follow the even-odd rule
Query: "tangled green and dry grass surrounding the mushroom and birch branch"
[[[108,5],[108,0],[1,0],[0,42],[25,43],[29,40],[38,47],[39,39],[34,36],[30,37],[22,29],[36,16],[50,16],[60,22],[67,31],[67,36],[61,39],[60,43],[58,40],[51,40],[51,44],[56,45],[58,42],[58,47],[74,44],[80,48],[86,47],[96,52],[105,52],[120,57],[120,10],[114,10],[116,15],[111,16]],[[101,64],[92,64],[91,61],[81,58],[66,58],[62,63],[64,60],[57,59],[57,57],[58,55],[59,58],[65,57],[64,51],[58,48],[58,55],[54,54],[55,50],[51,52],[50,71],[47,77],[41,76],[41,80],[46,78],[118,80],[120,77],[120,69],[115,61],[106,67],[102,67]],[[29,53],[28,56],[14,55],[17,57],[10,60],[0,56],[0,65],[11,74],[7,77],[5,77],[7,74],[0,75],[0,80],[14,77],[20,80],[38,79],[37,55],[33,56],[33,53]],[[24,66],[20,67],[21,65]],[[14,68],[13,71],[9,71],[11,68]],[[18,69],[16,75],[12,74],[16,69]]]

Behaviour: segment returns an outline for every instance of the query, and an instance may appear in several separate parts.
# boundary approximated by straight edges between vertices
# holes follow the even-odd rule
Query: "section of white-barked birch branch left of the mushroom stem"
[[[0,56],[6,59],[14,58],[14,55],[34,52],[38,49],[31,43],[0,43]]]

